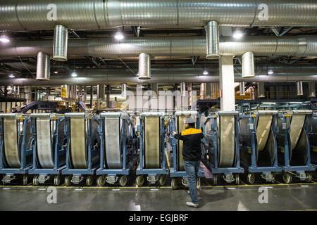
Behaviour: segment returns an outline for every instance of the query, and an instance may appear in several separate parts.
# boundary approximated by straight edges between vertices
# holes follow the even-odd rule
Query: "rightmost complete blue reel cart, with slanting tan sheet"
[[[287,184],[294,176],[300,181],[311,182],[310,172],[315,167],[311,164],[306,120],[311,113],[311,110],[288,110],[278,114],[278,162],[283,170],[283,181]]]

